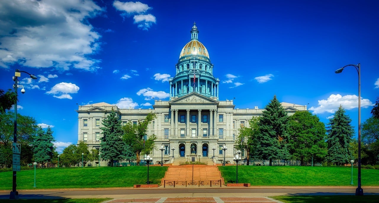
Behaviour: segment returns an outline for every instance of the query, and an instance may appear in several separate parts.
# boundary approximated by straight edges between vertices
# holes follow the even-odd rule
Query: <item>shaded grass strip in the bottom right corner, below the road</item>
[[[286,203],[377,203],[379,195],[273,196],[270,198]]]

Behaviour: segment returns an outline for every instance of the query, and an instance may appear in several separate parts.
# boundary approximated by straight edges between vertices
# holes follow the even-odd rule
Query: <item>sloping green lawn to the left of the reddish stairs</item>
[[[150,166],[150,184],[160,184],[168,167]],[[146,166],[51,168],[36,170],[36,189],[117,188],[146,184]],[[0,173],[0,189],[12,189],[12,172]],[[17,172],[17,189],[34,189],[34,170]]]

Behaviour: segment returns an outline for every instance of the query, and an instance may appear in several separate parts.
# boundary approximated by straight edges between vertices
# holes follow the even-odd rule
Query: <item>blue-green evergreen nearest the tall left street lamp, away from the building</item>
[[[53,142],[53,130],[47,127],[46,132],[41,127],[37,129],[37,136],[33,142],[34,161],[43,166],[46,162],[50,162],[55,150]]]

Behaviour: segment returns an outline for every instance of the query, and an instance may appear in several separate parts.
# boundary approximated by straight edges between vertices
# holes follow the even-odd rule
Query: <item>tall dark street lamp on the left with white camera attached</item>
[[[16,69],[16,72],[14,73],[13,88],[14,88],[14,92],[16,93],[16,101],[14,102],[14,130],[13,130],[13,142],[14,143],[17,143],[17,99],[18,99],[17,88],[19,86],[22,86],[22,85],[18,85],[19,84],[18,77],[21,76],[21,73],[27,73],[31,79],[37,79],[37,77],[34,76],[33,74],[30,74],[26,71],[20,71],[19,69]],[[21,89],[21,93],[25,93],[25,89],[23,88],[23,86]],[[21,150],[20,150],[20,152],[21,152]],[[15,153],[13,153],[13,155],[15,155]],[[13,170],[14,171],[13,171],[12,191],[11,191],[11,194],[9,194],[9,199],[11,199],[11,200],[15,200],[15,199],[19,198],[19,192],[16,190],[16,186],[17,186],[17,184],[16,184],[16,170],[14,168],[13,168]]]

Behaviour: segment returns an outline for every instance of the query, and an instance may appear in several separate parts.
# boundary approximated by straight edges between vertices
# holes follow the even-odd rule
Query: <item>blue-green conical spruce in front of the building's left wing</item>
[[[125,158],[125,143],[122,141],[124,130],[121,127],[121,120],[117,117],[116,112],[112,112],[103,120],[103,137],[100,138],[100,157],[103,160],[110,160],[111,166],[113,161],[121,161]]]

